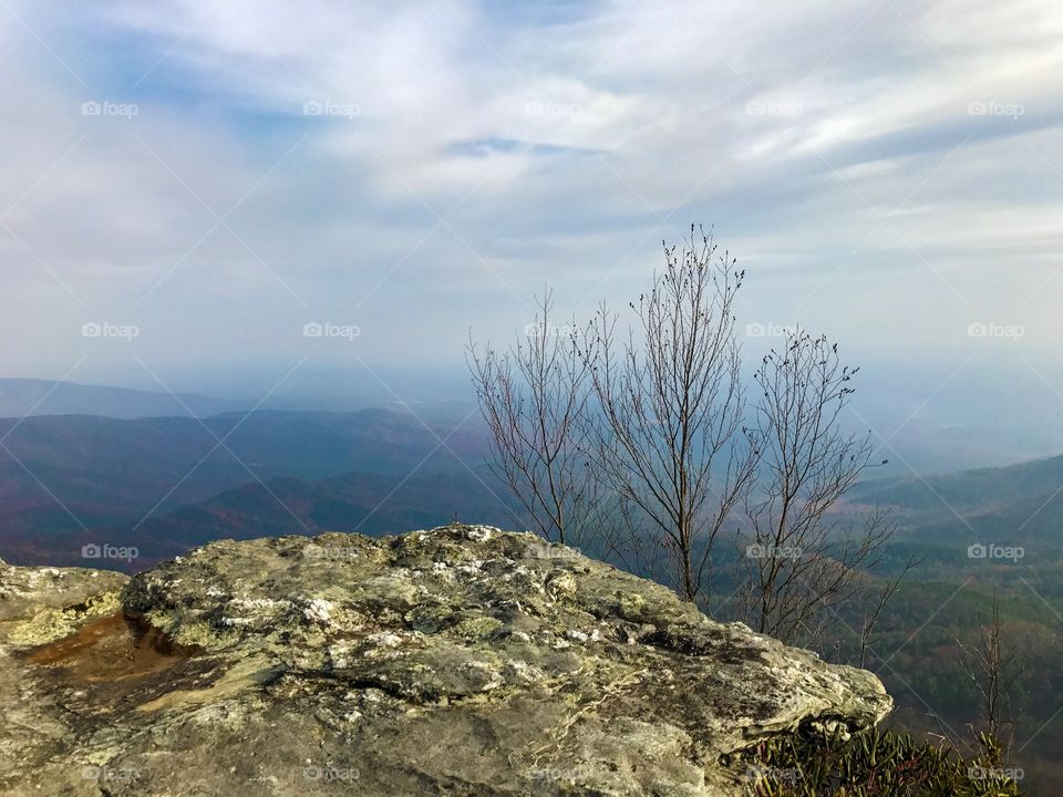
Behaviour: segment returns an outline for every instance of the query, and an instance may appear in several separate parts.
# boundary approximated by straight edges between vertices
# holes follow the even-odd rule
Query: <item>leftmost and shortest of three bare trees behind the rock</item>
[[[535,321],[508,352],[469,340],[466,360],[492,439],[493,473],[543,537],[578,546],[599,516],[597,482],[580,434],[589,366],[576,345],[575,322],[551,322],[544,291]]]

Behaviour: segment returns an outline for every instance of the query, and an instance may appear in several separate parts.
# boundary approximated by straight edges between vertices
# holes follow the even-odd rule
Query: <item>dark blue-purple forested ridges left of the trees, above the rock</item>
[[[101,538],[165,557],[217,536],[353,529],[370,513],[379,532],[389,518],[409,528],[497,508],[485,432],[464,421],[386,410],[0,420],[0,558],[75,563],[73,549]]]

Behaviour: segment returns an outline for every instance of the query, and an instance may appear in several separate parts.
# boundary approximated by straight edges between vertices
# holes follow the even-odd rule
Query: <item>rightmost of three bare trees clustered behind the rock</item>
[[[855,532],[830,515],[871,454],[869,434],[846,434],[839,423],[856,372],[839,363],[837,344],[795,330],[754,376],[760,397],[746,432],[757,484],[744,496],[750,545],[739,611],[784,641],[815,641],[824,632],[823,610],[852,594],[892,531],[884,513]]]

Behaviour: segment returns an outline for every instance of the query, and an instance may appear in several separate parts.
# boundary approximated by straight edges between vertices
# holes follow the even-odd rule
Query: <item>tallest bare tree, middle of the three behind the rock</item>
[[[638,322],[627,340],[605,307],[588,328],[589,437],[595,472],[625,510],[626,546],[663,549],[669,580],[692,601],[708,591],[716,535],[753,475],[733,312],[744,272],[693,228],[664,259],[631,304]]]

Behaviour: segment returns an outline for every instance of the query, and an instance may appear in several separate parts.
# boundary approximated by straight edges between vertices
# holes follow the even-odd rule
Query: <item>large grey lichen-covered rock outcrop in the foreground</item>
[[[126,582],[0,567],[0,791],[730,795],[890,700],[528,534],[220,541]]]

